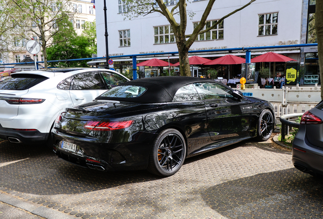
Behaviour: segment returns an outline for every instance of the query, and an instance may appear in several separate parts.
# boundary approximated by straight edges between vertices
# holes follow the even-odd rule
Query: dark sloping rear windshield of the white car
[[[11,78],[0,83],[0,90],[27,90],[45,81],[42,76],[24,76],[22,78]]]

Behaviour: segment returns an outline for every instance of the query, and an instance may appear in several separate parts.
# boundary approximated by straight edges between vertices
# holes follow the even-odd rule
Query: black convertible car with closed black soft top
[[[270,102],[203,78],[156,77],[118,85],[68,108],[52,129],[56,155],[97,170],[170,176],[186,157],[274,129]]]

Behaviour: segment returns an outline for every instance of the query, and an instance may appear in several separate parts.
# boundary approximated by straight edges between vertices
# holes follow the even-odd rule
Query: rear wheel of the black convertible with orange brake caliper
[[[149,155],[147,170],[159,176],[174,175],[183,165],[186,144],[176,129],[166,129],[157,136]]]

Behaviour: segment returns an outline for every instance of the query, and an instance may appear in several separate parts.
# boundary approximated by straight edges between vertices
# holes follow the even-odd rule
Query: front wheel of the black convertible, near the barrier
[[[259,117],[257,124],[257,140],[266,141],[274,130],[274,117],[269,109],[265,109]]]

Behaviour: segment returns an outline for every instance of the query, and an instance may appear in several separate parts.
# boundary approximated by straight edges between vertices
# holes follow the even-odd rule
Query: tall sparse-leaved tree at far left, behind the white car
[[[16,35],[28,38],[32,34],[37,36],[43,50],[44,64],[47,68],[46,48],[51,45],[53,36],[61,29],[57,23],[72,17],[70,0],[1,0],[8,3],[6,12],[11,13],[11,19],[16,24]],[[30,36],[29,36],[30,37]]]

